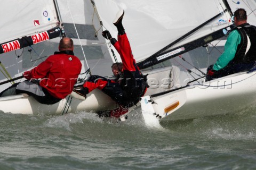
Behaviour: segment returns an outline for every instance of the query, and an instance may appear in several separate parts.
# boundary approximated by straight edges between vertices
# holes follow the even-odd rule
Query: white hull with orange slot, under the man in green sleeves
[[[153,95],[154,96],[154,95]],[[241,111],[256,101],[256,72],[236,73],[151,98],[142,97],[142,113],[158,121],[186,120]],[[154,111],[151,110],[151,105]]]

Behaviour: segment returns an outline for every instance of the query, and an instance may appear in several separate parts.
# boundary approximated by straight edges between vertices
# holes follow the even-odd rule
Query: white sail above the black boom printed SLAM
[[[0,44],[50,30],[58,24],[59,19],[52,0],[2,1]]]

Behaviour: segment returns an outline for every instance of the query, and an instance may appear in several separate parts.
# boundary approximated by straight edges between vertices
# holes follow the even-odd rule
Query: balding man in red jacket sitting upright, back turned
[[[73,40],[62,38],[59,52],[23,73],[29,81],[13,84],[1,92],[0,96],[26,93],[43,104],[54,104],[65,98],[73,90],[82,69],[81,61],[74,56],[73,49]],[[38,82],[36,79],[41,80]]]

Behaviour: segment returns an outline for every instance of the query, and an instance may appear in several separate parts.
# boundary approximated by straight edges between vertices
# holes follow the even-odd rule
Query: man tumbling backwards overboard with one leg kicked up
[[[147,89],[147,83],[141,74],[139,67],[135,64],[132,55],[131,46],[122,25],[124,11],[117,13],[117,18],[113,21],[118,30],[118,41],[111,37],[108,30],[102,32],[102,36],[109,39],[120,54],[122,63],[114,63],[112,71],[116,76],[115,80],[106,79],[99,75],[92,75],[83,84],[78,93],[88,94],[95,88],[98,88],[110,96],[121,105],[109,116],[119,117],[127,112],[127,108],[138,103],[139,98],[143,96]]]

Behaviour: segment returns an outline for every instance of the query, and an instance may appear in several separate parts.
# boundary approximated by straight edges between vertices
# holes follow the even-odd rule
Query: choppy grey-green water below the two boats
[[[0,114],[0,169],[256,169],[256,108],[149,129],[93,113]]]

